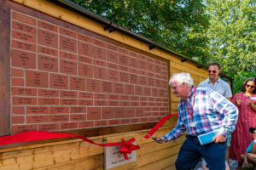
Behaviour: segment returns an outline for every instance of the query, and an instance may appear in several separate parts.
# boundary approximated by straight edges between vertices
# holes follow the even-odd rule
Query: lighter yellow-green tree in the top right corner
[[[255,1],[207,0],[210,26],[210,59],[218,61],[226,75],[234,77],[242,71],[256,69]]]

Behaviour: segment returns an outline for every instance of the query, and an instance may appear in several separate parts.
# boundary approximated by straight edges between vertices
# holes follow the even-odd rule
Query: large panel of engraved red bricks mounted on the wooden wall
[[[167,62],[15,10],[10,19],[12,133],[157,122],[169,113]]]

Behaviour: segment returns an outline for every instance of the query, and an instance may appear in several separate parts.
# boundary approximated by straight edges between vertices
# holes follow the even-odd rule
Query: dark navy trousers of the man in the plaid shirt
[[[207,161],[210,170],[224,170],[226,142],[201,145],[197,137],[186,136],[179,150],[175,166],[177,170],[193,169],[201,157]]]

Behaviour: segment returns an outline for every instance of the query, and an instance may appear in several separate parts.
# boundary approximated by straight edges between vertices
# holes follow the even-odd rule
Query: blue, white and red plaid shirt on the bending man
[[[218,128],[218,133],[226,137],[235,130],[237,118],[236,106],[224,96],[211,88],[193,87],[188,99],[180,100],[177,126],[164,137],[168,142],[177,139],[185,130],[189,135],[198,136]]]

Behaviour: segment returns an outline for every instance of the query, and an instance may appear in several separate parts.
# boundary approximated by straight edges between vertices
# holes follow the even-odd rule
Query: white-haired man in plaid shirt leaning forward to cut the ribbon
[[[226,135],[236,128],[238,110],[228,99],[210,88],[195,88],[189,73],[175,73],[169,85],[172,93],[182,98],[178,105],[177,126],[156,142],[180,137],[187,130],[177,161],[177,170],[193,169],[201,156],[211,170],[225,169]],[[198,135],[217,130],[212,143],[200,144]]]

